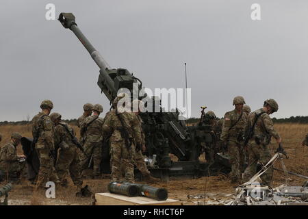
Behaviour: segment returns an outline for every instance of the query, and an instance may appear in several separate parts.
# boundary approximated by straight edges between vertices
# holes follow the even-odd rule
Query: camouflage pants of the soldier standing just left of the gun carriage
[[[83,170],[88,168],[88,164],[92,157],[94,177],[99,177],[101,175],[102,146],[103,142],[86,142],[84,144],[84,153],[86,153],[86,155],[81,155],[81,166]]]

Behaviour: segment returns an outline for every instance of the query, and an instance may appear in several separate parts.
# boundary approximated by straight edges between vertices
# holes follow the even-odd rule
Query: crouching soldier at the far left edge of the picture
[[[19,163],[18,160],[25,158],[25,155],[17,155],[16,147],[21,142],[20,133],[12,133],[11,142],[5,144],[0,150],[0,181],[8,177],[8,181],[17,182],[24,168],[24,163]],[[1,176],[2,175],[2,176]]]

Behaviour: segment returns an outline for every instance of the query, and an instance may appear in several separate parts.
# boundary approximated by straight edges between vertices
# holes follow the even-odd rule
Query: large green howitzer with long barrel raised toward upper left
[[[179,120],[178,110],[164,112],[160,103],[159,111],[154,110],[157,99],[147,96],[144,88],[142,88],[142,81],[134,77],[125,68],[111,68],[77,27],[73,14],[61,13],[58,20],[63,27],[73,31],[90,53],[94,62],[99,66],[97,84],[110,102],[114,100],[119,90],[126,88],[131,92],[131,95],[133,93],[139,94],[138,99],[146,100],[144,104],[148,109],[152,107],[151,112],[149,110],[142,112],[140,116],[143,121],[142,129],[146,137],[146,155],[149,157],[156,155],[159,171],[168,172],[168,175],[172,175],[172,172],[174,175],[198,174],[198,157],[201,153],[201,146],[194,141],[194,133],[198,127],[187,127],[185,121]],[[131,96],[132,100],[133,95]],[[171,162],[170,153],[176,155],[179,162]],[[104,168],[104,165],[102,167]],[[158,174],[161,175],[162,172]]]

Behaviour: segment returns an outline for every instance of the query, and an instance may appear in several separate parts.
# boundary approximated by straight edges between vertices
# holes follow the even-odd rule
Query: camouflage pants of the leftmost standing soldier
[[[45,188],[48,181],[59,182],[57,172],[53,166],[53,159],[49,156],[49,149],[36,149],[40,159],[40,169],[38,170],[38,179],[36,187]]]

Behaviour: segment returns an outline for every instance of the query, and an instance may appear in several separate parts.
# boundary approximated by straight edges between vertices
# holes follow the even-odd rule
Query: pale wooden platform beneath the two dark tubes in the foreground
[[[181,202],[170,198],[166,201],[157,201],[142,196],[128,197],[104,192],[95,194],[94,205],[181,205]]]

